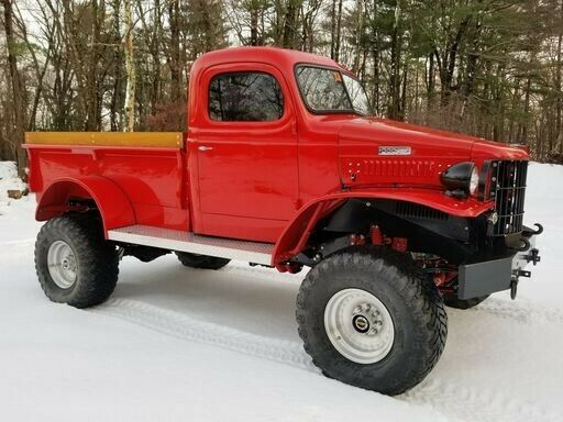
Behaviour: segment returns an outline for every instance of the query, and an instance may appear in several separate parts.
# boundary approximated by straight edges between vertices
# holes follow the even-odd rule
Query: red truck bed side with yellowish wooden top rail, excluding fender
[[[57,180],[100,176],[126,192],[139,224],[186,231],[189,212],[184,134],[31,132],[30,188],[37,200]]]

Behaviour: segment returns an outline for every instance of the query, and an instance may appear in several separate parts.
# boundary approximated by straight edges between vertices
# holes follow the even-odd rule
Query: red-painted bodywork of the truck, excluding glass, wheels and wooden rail
[[[189,129],[179,149],[26,145],[37,219],[63,213],[69,196],[88,195],[103,210],[107,229],[137,223],[275,243],[273,264],[287,270],[283,263],[306,247],[316,222],[349,198],[410,201],[473,218],[493,202],[446,197],[440,174],[468,159],[481,167],[485,159],[529,158],[522,147],[429,127],[311,114],[294,76],[301,63],[347,71],[324,57],[268,47],[200,57],[191,68]],[[210,79],[242,70],[277,79],[285,98],[279,121],[209,119]],[[380,156],[380,146],[410,146],[411,154]]]

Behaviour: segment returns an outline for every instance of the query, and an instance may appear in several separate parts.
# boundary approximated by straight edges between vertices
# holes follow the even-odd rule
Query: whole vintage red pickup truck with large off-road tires
[[[323,374],[396,395],[432,369],[444,303],[529,277],[525,147],[371,115],[336,63],[244,47],[192,66],[187,133],[27,133],[46,296],[103,302],[120,258],[175,253],[297,273],[305,348]]]

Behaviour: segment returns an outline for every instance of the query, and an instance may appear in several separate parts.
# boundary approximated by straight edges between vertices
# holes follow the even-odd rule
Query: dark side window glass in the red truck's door
[[[209,85],[209,116],[219,122],[271,122],[284,114],[276,78],[262,73],[222,74]]]

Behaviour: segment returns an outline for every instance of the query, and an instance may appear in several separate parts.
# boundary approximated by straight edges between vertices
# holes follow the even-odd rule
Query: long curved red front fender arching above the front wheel
[[[284,270],[282,263],[301,252],[317,222],[352,198],[391,199],[433,208],[456,216],[475,218],[494,208],[494,201],[483,202],[475,198],[464,200],[448,197],[440,190],[394,189],[346,190],[318,198],[302,207],[286,227],[274,247],[272,264]]]

